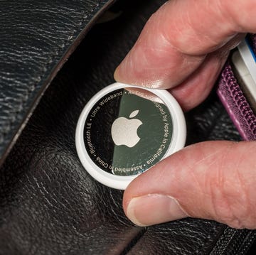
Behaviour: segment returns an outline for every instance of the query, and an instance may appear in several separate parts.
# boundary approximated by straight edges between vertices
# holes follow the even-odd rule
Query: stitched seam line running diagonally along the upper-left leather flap
[[[26,92],[24,93],[24,99],[21,100],[21,104],[16,107],[18,108],[14,114],[11,114],[10,118],[11,120],[9,120],[9,124],[6,125],[6,131],[3,131],[1,133],[2,139],[4,140],[7,136],[7,134],[9,134],[9,129],[11,129],[11,125],[14,124],[15,120],[16,120],[16,116],[24,109],[24,105],[26,104],[28,98],[31,96],[31,93],[36,89],[36,85],[41,82],[41,80],[43,79],[43,75],[46,72],[46,70],[48,69],[49,65],[51,63],[53,63],[53,60],[55,60],[55,57],[57,57],[60,53],[60,50],[63,50],[63,48],[65,48],[65,45],[67,45],[75,36],[75,32],[78,31],[78,28],[80,28],[80,26],[82,26],[82,23],[85,21],[85,19],[88,17],[88,15],[90,13],[92,13],[93,11],[95,11],[95,9],[97,9],[97,7],[100,5],[101,1],[98,1],[95,6],[87,13],[84,13],[82,18],[80,19],[80,22],[75,24],[76,28],[70,33],[70,36],[68,36],[67,39],[64,40],[64,43],[62,45],[59,45],[57,50],[55,50],[55,53],[53,53],[53,55],[51,55],[50,59],[48,60],[48,62],[46,63],[46,66],[43,67],[43,69],[40,71],[41,75],[38,75],[38,77],[36,77],[36,80],[38,80],[38,82],[34,82],[33,85],[31,85],[31,87],[28,87],[28,89],[26,89]],[[1,139],[0,139],[1,141]]]

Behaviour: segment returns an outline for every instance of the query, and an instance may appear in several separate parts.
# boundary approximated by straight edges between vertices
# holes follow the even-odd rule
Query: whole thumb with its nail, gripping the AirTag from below
[[[255,142],[188,146],[139,175],[124,192],[124,212],[147,226],[183,217],[256,228]]]

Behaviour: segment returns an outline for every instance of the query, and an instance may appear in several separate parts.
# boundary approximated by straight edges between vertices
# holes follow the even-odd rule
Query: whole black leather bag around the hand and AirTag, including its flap
[[[246,254],[247,229],[191,218],[134,226],[122,191],[82,168],[78,116],[164,0],[113,2],[0,1],[0,254]],[[214,91],[186,121],[188,144],[240,140]]]

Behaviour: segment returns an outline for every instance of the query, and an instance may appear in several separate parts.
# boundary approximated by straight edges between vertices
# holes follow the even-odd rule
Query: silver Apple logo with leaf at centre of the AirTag
[[[119,117],[113,122],[111,135],[115,145],[125,145],[132,148],[139,142],[140,138],[137,134],[137,129],[142,125],[142,121],[132,119],[138,113],[139,110],[135,110],[129,115],[130,119]]]

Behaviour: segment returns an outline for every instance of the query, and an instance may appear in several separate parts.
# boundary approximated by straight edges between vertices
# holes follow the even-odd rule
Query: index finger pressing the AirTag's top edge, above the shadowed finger
[[[114,77],[146,87],[175,87],[208,53],[223,48],[238,33],[256,32],[255,11],[254,0],[167,1],[146,23]]]

